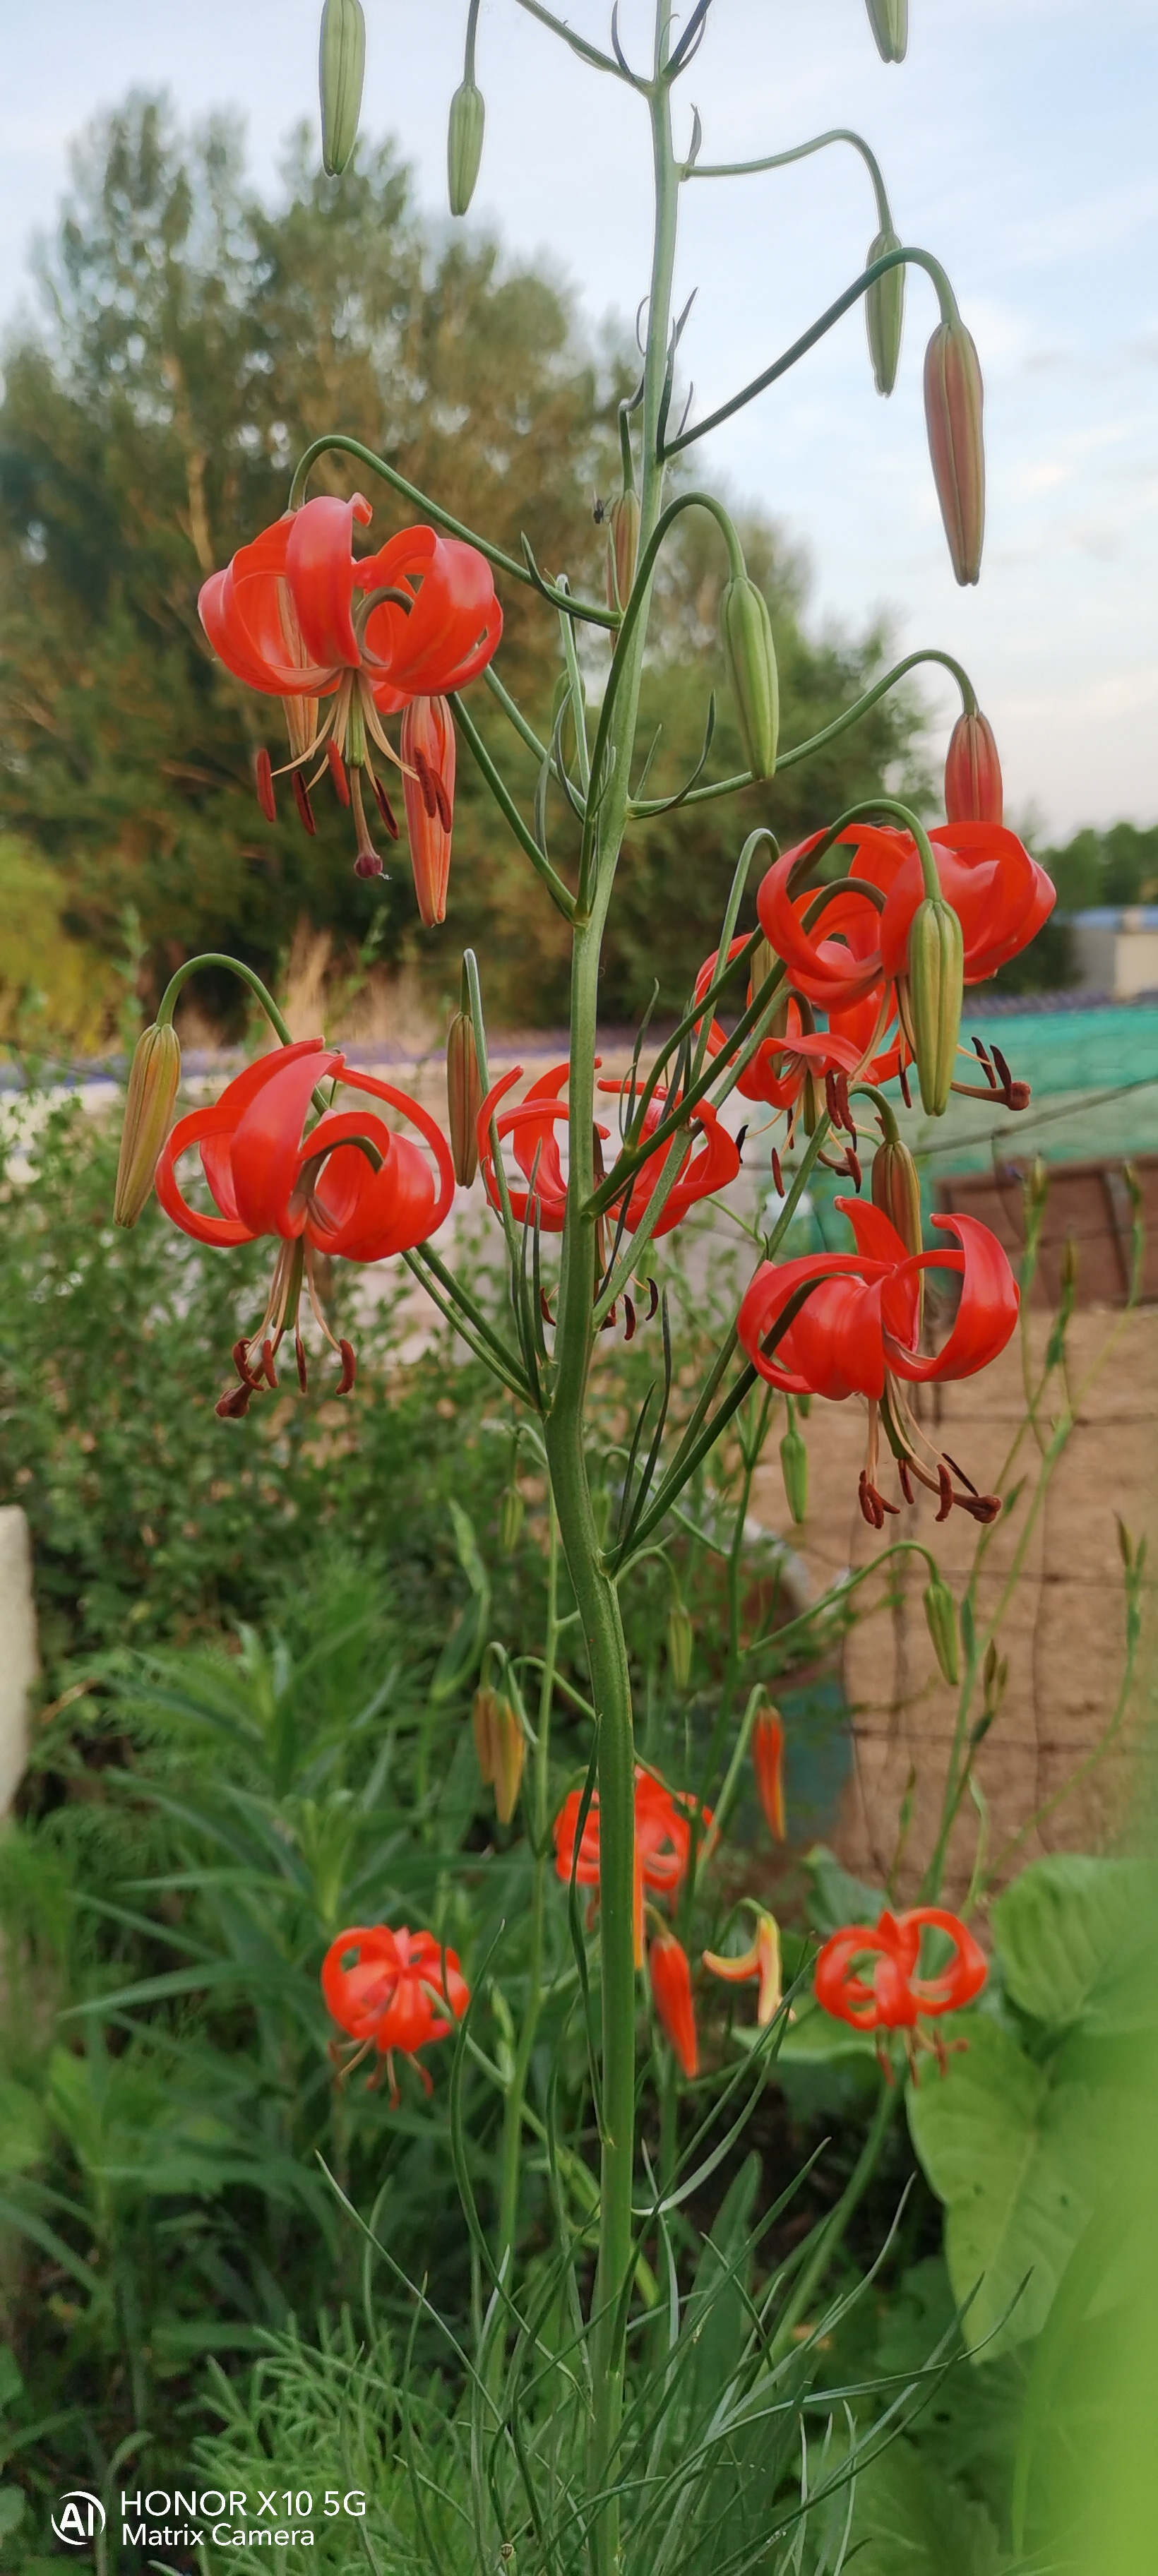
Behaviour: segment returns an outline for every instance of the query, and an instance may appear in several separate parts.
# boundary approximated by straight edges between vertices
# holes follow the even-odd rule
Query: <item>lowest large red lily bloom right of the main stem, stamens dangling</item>
[[[908,1476],[919,1476],[942,1497],[939,1520],[955,1502],[975,1520],[996,1520],[998,1499],[978,1494],[962,1468],[932,1450],[901,1386],[906,1378],[914,1383],[973,1378],[1006,1347],[1019,1291],[996,1234],[975,1216],[934,1216],[934,1226],[957,1236],[960,1252],[908,1252],[883,1208],[859,1198],[836,1198],[834,1206],[849,1218],[857,1252],[762,1262],[736,1319],[751,1365],[769,1386],[793,1396],[829,1396],[836,1404],[852,1394],[870,1399],[870,1455],[859,1479],[859,1504],[875,1528],[883,1528],[885,1512],[896,1512],[875,1486],[878,1414],[898,1458],[906,1502],[914,1499]],[[932,1267],[960,1275],[960,1306],[944,1347],[921,1358],[919,1280]],[[793,1316],[777,1350],[764,1352],[767,1334],[808,1280],[818,1285]],[[968,1492],[955,1489],[950,1471]]]

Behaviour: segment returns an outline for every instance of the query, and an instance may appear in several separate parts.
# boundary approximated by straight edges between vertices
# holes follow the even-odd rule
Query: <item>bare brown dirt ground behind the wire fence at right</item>
[[[1034,1358],[1045,1352],[1047,1319],[1032,1316]],[[968,1886],[978,1834],[988,1837],[991,1860],[1029,1819],[1016,1860],[1042,1850],[1096,1850],[1130,1826],[1137,1793],[1132,1741],[1143,1716],[1148,1674],[1148,1628],[1137,1659],[1140,1682],[1122,1731],[1076,1788],[1060,1798],[1071,1777],[1091,1762],[1114,1716],[1125,1669],[1125,1589],[1117,1517],[1132,1538],[1153,1530],[1158,1502],[1158,1311],[1119,1316],[1089,1306],[1073,1316],[1071,1337],[1073,1432],[1052,1473],[1042,1479],[1042,1455],[1024,1440],[1014,1476],[1027,1471],[1022,1499],[993,1528],[983,1548],[978,1589],[980,1620],[1004,1602],[1009,1577],[1019,1582],[1001,1607],[998,1651],[1009,1656],[1009,1682],[1001,1713],[978,1754],[983,1816],[968,1801],[950,1852],[950,1891]],[[932,1430],[934,1406],[926,1401]],[[1011,1443],[1024,1422],[1022,1358],[1011,1350],[986,1376],[937,1394],[939,1440],[968,1468],[973,1481],[1009,1494],[1014,1476],[1004,1473]],[[1063,1414],[1063,1388],[1042,1409],[1042,1440],[1050,1445]],[[878,1535],[857,1510],[865,1412],[847,1404],[813,1404],[808,1422],[811,1510],[795,1546],[816,1589],[844,1566],[865,1566],[896,1533],[916,1533],[934,1551],[947,1582],[960,1595],[978,1548],[978,1530],[962,1512],[934,1528],[934,1497],[921,1497],[903,1520],[890,1520]],[[888,1473],[880,1484],[890,1492]],[[777,1466],[764,1468],[754,1507],[764,1522],[782,1525],[785,1504]],[[1024,1553],[1022,1553],[1024,1551]],[[924,1566],[888,1582],[872,1577],[862,1600],[878,1602],[859,1620],[844,1656],[847,1692],[854,1710],[854,1775],[839,1824],[841,1860],[870,1878],[888,1878],[898,1852],[898,1816],[911,1790],[911,1829],[898,1868],[898,1893],[914,1891],[929,1857],[944,1762],[957,1718],[957,1692],[950,1690],[929,1643],[921,1607]],[[980,1631],[986,1633],[986,1631]],[[975,1716],[975,1710],[973,1710]]]

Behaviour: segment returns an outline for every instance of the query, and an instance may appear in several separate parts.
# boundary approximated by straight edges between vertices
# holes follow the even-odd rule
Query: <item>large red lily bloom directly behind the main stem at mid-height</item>
[[[486,1100],[479,1110],[479,1167],[484,1175],[492,1208],[502,1206],[499,1182],[494,1175],[494,1157],[492,1157],[492,1133],[489,1133],[492,1118],[499,1100],[504,1097],[504,1092],[510,1092],[512,1082],[517,1082],[520,1074],[522,1064],[515,1064],[510,1074],[502,1074],[502,1079],[494,1082],[492,1090],[486,1092]],[[566,1175],[556,1141],[556,1123],[571,1115],[569,1103],[558,1097],[566,1074],[569,1066],[556,1064],[548,1074],[540,1074],[538,1082],[530,1084],[528,1097],[520,1100],[517,1108],[504,1110],[502,1118],[497,1121],[499,1141],[504,1136],[512,1139],[515,1162],[520,1172],[525,1172],[528,1182],[533,1182],[530,1190],[510,1193],[512,1213],[522,1224],[530,1208],[530,1216],[543,1229],[543,1234],[561,1234],[566,1216]],[[600,1082],[600,1092],[625,1092],[625,1090],[628,1090],[625,1082]],[[636,1084],[636,1090],[643,1090],[643,1084]],[[669,1105],[672,1105],[669,1095],[664,1092],[661,1084],[656,1084],[656,1092],[648,1103],[648,1113],[643,1118],[643,1139],[654,1136]],[[600,1139],[610,1136],[610,1128],[600,1126],[597,1136]],[[695,1136],[700,1136],[700,1146],[692,1154]],[[628,1198],[628,1229],[638,1226],[648,1206],[651,1190],[656,1188],[656,1180],[664,1170],[669,1146],[672,1139],[656,1146],[654,1159],[641,1164],[628,1190],[623,1193]],[[728,1133],[726,1126],[721,1126],[710,1103],[700,1100],[700,1105],[692,1110],[692,1131],[687,1136],[685,1159],[679,1164],[679,1180],[669,1193],[664,1213],[654,1229],[656,1236],[669,1234],[672,1226],[679,1226],[679,1221],[687,1216],[690,1208],[695,1208],[700,1198],[713,1198],[713,1193],[723,1190],[728,1180],[736,1180],[739,1167],[741,1157],[736,1139]],[[623,1195],[612,1198],[610,1203],[607,1213],[612,1224],[620,1216]]]

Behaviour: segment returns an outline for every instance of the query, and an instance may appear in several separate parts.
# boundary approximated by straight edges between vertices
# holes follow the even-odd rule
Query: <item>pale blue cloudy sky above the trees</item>
[[[561,0],[607,44],[605,0]],[[283,137],[317,113],[319,0],[0,0],[0,325],[28,309],[28,242],[51,229],[69,142],[131,85],[185,118],[232,106],[278,188]],[[445,219],[445,111],[466,0],[365,0],[363,124],[394,131]],[[651,0],[620,0],[643,62]],[[484,0],[486,149],[471,209],[515,258],[566,281],[592,330],[630,317],[648,270],[641,100],[587,70],[520,0]],[[808,618],[898,652],[939,644],[993,721],[1011,819],[1045,837],[1158,819],[1158,106],[1155,0],[911,0],[903,64],[878,59],[865,0],[713,0],[677,116],[703,160],[854,126],[893,222],[950,270],[986,376],[988,531],[957,590],[929,477],[921,355],[937,322],[911,273],[896,394],[872,389],[852,312],[715,433],[703,477],[764,505],[805,549]],[[677,126],[679,131],[679,126]],[[859,155],[834,147],[685,188],[677,301],[692,420],[759,374],[865,263]],[[952,698],[926,683],[952,721]],[[934,737],[937,739],[937,737]]]

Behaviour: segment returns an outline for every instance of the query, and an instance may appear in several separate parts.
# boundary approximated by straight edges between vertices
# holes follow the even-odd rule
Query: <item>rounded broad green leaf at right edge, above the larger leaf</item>
[[[1153,1870],[1137,1860],[1050,1852],[1032,1860],[993,1906],[1006,1991],[1034,2022],[1109,2038],[1153,2020],[1137,1981],[1150,1940]]]

